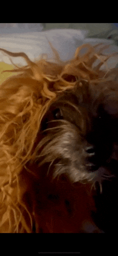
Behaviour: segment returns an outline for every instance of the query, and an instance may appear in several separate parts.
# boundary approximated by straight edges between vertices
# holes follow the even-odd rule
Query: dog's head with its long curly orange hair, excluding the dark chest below
[[[23,232],[24,226],[30,232],[24,224],[26,207],[22,204],[28,185],[32,188],[33,184],[33,179],[27,178],[29,172],[36,176],[35,184],[40,173],[94,184],[101,182],[109,166],[112,169],[109,163],[117,143],[117,82],[100,82],[100,65],[98,70],[91,68],[98,55],[94,47],[89,49],[82,58],[77,49],[74,60],[61,64],[33,63],[24,53],[3,50],[10,56],[24,57],[28,64],[13,70],[19,74],[0,87],[1,226],[7,230],[6,221],[12,230],[9,209],[13,209],[14,220],[17,216],[13,232]],[[31,212],[28,210],[29,216]]]

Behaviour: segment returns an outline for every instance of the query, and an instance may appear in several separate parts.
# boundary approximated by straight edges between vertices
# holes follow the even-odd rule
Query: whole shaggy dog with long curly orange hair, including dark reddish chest
[[[118,81],[97,47],[60,64],[0,49],[27,62],[1,85],[1,232],[102,232],[91,188],[116,169]]]

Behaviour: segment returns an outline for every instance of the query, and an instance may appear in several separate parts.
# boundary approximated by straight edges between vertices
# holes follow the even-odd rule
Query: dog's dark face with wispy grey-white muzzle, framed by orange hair
[[[51,104],[35,144],[39,168],[72,182],[102,179],[117,140],[116,87],[115,82],[82,81]]]

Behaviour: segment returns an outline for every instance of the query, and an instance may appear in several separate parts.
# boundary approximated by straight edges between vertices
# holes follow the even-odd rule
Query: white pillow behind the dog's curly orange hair
[[[118,47],[113,45],[113,40],[86,38],[88,32],[89,31],[86,30],[54,29],[41,32],[4,34],[0,38],[0,48],[4,48],[11,52],[25,52],[32,61],[34,61],[35,58],[40,58],[41,54],[47,54],[48,60],[54,61],[54,54],[49,45],[49,41],[57,50],[63,61],[72,58],[76,48],[83,45],[83,43],[95,45],[103,42],[110,45],[110,47],[104,51],[106,54],[114,51],[118,52]],[[11,64],[10,57],[3,54],[1,51],[0,61]],[[18,65],[26,64],[21,57],[12,58],[12,61],[14,64]],[[116,60],[115,63],[113,62],[112,68],[115,67],[118,60]]]

